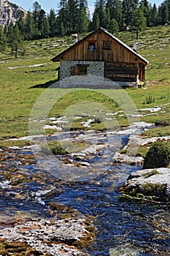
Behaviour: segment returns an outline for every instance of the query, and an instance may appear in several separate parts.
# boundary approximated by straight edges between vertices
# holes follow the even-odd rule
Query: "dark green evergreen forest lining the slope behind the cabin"
[[[138,37],[146,26],[170,24],[170,0],[159,7],[147,0],[96,0],[92,17],[87,0],[61,0],[56,9],[46,13],[35,1],[26,17],[20,11],[17,23],[0,27],[0,52],[9,47],[17,58],[24,54],[24,40],[87,33],[100,26],[115,35],[135,31]]]

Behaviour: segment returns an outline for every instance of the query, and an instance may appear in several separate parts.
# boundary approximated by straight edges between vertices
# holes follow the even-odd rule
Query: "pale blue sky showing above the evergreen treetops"
[[[35,1],[38,1],[38,3],[42,6],[42,9],[44,9],[46,12],[49,12],[50,9],[54,9],[55,11],[58,10],[58,2],[57,0],[9,0],[10,2],[14,4],[18,4],[20,7],[23,7],[26,11],[31,9],[32,5]],[[159,6],[163,0],[149,0],[151,4],[156,4]],[[93,10],[94,6],[94,0],[88,0],[88,6],[90,7],[90,11]]]

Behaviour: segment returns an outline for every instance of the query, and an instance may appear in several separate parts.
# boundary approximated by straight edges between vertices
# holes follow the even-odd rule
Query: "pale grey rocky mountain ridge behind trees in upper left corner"
[[[7,0],[0,0],[0,26],[9,26],[9,23],[15,24],[18,20],[18,14],[23,11],[24,15],[27,14],[26,10],[13,4]]]

